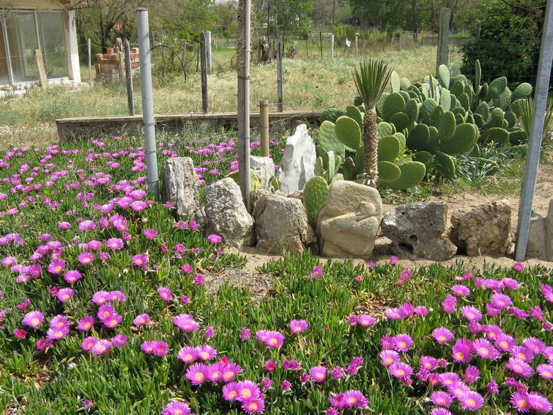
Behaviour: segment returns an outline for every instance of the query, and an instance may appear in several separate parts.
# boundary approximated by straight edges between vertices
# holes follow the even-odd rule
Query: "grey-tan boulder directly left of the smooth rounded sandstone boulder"
[[[257,248],[280,254],[299,254],[316,241],[301,200],[266,190],[256,192],[254,206]]]

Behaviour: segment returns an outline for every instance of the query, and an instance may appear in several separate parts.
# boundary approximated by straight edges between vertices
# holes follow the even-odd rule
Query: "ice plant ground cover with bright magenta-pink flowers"
[[[0,155],[0,408],[28,414],[551,412],[543,267],[243,265],[145,192],[138,140]],[[234,142],[161,147],[213,181]],[[279,148],[273,146],[278,161]],[[162,159],[160,160],[162,165]]]

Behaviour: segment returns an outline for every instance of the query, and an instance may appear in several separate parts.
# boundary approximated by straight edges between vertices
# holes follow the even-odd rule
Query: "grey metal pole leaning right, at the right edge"
[[[553,60],[553,0],[547,0],[543,33],[541,35],[540,61],[538,64],[538,77],[534,90],[534,113],[532,114],[532,126],[528,138],[528,156],[526,159],[526,171],[524,174],[523,189],[521,194],[521,206],[518,209],[518,226],[516,230],[516,246],[514,259],[524,261],[526,244],[530,228],[530,216],[532,215],[532,202],[536,188],[536,174],[540,158],[541,139],[543,136],[543,122],[547,107],[547,90],[551,75]]]

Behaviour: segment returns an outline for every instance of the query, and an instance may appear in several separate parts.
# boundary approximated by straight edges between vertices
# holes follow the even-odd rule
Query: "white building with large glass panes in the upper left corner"
[[[37,82],[36,49],[48,83],[81,82],[71,0],[0,0],[0,89]]]

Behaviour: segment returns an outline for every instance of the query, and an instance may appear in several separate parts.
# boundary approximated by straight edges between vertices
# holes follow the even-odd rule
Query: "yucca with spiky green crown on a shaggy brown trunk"
[[[378,137],[376,103],[390,82],[392,69],[386,62],[366,59],[353,71],[353,80],[365,105],[363,145],[365,149],[364,183],[376,187],[378,179]]]

